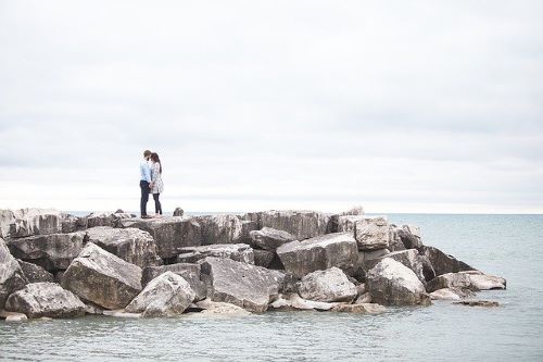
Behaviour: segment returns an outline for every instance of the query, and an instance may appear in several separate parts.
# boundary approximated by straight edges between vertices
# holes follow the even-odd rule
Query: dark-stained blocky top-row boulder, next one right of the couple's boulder
[[[249,229],[237,215],[204,215],[195,217],[202,227],[202,245],[240,244],[250,241]]]

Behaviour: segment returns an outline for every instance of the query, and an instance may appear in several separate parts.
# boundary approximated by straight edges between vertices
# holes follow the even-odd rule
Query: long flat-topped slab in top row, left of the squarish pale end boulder
[[[272,227],[292,234],[298,240],[313,238],[327,232],[329,217],[314,211],[261,211],[248,213],[244,220],[255,222],[257,227]]]

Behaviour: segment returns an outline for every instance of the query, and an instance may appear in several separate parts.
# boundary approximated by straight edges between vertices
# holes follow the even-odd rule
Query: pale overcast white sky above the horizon
[[[0,0],[0,209],[151,149],[165,211],[542,213],[543,2]]]

